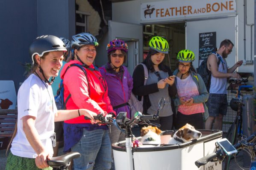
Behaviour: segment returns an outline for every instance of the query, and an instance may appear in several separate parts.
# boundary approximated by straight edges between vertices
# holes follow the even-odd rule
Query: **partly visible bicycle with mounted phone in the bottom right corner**
[[[233,145],[235,147],[235,149],[238,151],[245,150],[245,149],[248,150],[248,153],[250,154],[250,157],[251,157],[251,164],[250,164],[249,170],[255,170],[255,167],[256,167],[256,143],[255,143],[255,140],[256,140],[256,132],[254,132],[252,135],[250,135],[247,138],[238,139],[237,143],[235,145]],[[216,152],[211,153],[208,156],[198,159],[197,161],[195,161],[195,165],[199,168],[200,166],[207,164],[207,162],[209,162],[209,161],[220,161],[220,162],[223,161],[224,158],[227,156],[227,153],[224,151],[225,149],[226,148],[220,148]],[[235,154],[234,154],[234,156],[235,156]],[[235,160],[235,162],[236,162],[236,160]]]

